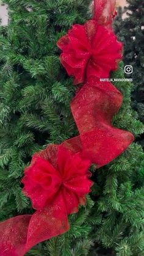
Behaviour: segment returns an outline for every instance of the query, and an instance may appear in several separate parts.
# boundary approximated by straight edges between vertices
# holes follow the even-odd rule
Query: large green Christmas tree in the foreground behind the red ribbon
[[[5,0],[10,24],[1,29],[1,221],[32,214],[21,191],[24,168],[48,144],[77,136],[70,110],[77,86],[60,64],[57,41],[73,24],[90,19],[87,0]],[[91,15],[92,16],[92,15]],[[111,78],[124,78],[121,63]],[[130,82],[114,82],[123,93],[113,126],[135,137],[143,133],[131,108]],[[96,170],[87,204],[69,217],[70,230],[35,246],[27,255],[143,255],[144,153],[132,144],[112,163]],[[108,251],[107,251],[108,250]]]

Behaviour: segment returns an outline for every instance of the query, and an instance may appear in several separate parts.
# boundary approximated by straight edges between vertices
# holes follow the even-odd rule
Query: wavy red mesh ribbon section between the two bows
[[[104,166],[124,152],[134,140],[128,131],[112,126],[112,117],[120,109],[123,96],[110,82],[92,77],[71,102],[71,111],[80,136],[63,142],[63,146],[79,152]]]

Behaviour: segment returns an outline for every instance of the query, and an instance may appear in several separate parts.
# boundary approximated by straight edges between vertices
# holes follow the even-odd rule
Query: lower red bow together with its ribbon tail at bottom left
[[[89,160],[61,145],[34,155],[22,182],[37,211],[0,224],[1,256],[23,256],[35,244],[68,231],[68,214],[85,205],[92,186],[88,167]]]

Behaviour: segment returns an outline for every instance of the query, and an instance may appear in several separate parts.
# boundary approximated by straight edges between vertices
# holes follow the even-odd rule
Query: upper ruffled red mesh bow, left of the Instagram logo
[[[87,21],[84,26],[74,25],[57,46],[63,51],[60,60],[68,75],[74,76],[74,84],[85,82],[91,76],[108,78],[122,58],[122,43],[95,20]]]

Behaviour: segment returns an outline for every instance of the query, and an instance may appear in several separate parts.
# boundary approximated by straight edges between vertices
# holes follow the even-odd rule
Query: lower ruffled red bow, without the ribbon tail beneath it
[[[54,218],[63,219],[63,212],[76,213],[79,204],[85,205],[85,194],[92,186],[89,167],[90,160],[82,159],[80,153],[51,145],[35,154],[26,168],[24,194],[31,198],[34,209],[51,208]]]

